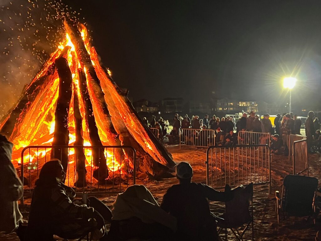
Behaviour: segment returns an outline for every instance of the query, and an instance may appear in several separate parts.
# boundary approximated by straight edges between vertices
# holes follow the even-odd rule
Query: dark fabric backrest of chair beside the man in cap
[[[239,227],[252,219],[249,205],[253,198],[253,183],[246,187],[238,186],[232,192],[233,199],[225,203],[224,219],[230,227]]]

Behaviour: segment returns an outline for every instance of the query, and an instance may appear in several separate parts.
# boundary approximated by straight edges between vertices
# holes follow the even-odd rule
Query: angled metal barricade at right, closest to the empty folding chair
[[[308,162],[308,140],[298,140],[293,142],[293,175],[299,175],[307,171],[309,175]]]

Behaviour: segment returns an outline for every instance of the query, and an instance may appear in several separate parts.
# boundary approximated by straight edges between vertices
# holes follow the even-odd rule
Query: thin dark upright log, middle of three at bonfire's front
[[[75,121],[75,136],[76,141],[74,146],[83,146],[83,137],[82,137],[82,117],[79,109],[79,100],[76,86],[74,85],[74,121]],[[81,147],[75,147],[74,158],[76,160],[76,182],[74,183],[75,187],[84,187],[86,185],[86,166],[85,160],[86,156],[83,153]]]

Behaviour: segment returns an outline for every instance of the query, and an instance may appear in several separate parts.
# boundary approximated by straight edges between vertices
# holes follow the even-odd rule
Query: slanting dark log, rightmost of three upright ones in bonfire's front
[[[92,146],[102,147],[98,129],[96,126],[95,116],[91,104],[91,99],[87,89],[86,75],[82,69],[78,69],[79,88],[82,96],[82,101],[85,107],[85,121],[88,127],[88,137]],[[93,177],[98,181],[103,181],[108,177],[108,169],[106,166],[106,158],[104,155],[104,148],[93,148],[92,159],[94,166],[98,167],[93,172]]]

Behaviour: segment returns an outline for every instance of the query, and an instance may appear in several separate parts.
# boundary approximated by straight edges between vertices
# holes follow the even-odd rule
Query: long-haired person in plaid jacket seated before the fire
[[[104,235],[104,218],[92,207],[73,203],[75,192],[62,183],[64,179],[65,172],[58,159],[42,166],[32,195],[26,240],[51,241],[53,235],[74,239],[94,230],[101,233],[100,237]],[[111,216],[106,206],[104,209]]]

